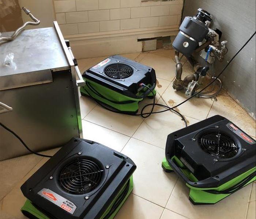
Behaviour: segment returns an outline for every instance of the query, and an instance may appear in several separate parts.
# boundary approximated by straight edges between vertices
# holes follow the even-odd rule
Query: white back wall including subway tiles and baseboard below
[[[138,38],[175,35],[183,0],[54,0],[56,18],[77,58],[142,50]]]

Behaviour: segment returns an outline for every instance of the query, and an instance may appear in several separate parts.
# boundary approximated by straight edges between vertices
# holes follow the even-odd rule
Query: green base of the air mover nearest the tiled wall
[[[136,98],[128,97],[128,96],[122,95],[121,93],[113,91],[112,89],[106,88],[94,81],[90,81],[85,78],[83,79],[84,81],[87,81],[87,83],[89,83],[90,86],[99,93],[99,95],[93,92],[91,88],[88,87],[87,84],[84,87],[80,88],[81,95],[90,96],[93,99],[96,99],[106,105],[109,105],[114,109],[117,109],[118,111],[127,112],[131,114],[135,114],[136,112],[138,112],[138,109],[139,109],[138,104],[140,101],[143,100],[143,98],[136,99]],[[140,92],[136,94],[136,96],[143,96],[143,93],[145,91],[147,91],[147,88],[143,88]],[[157,92],[155,91],[155,89],[153,90],[153,93],[154,95],[156,95]],[[147,95],[147,97],[153,98],[153,94],[150,92]],[[124,102],[128,102],[128,103],[124,103]]]

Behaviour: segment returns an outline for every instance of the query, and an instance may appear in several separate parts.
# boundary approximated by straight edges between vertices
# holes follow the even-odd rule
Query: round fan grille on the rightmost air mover
[[[238,152],[236,142],[221,132],[210,132],[199,139],[199,144],[211,156],[220,159],[234,157]]]

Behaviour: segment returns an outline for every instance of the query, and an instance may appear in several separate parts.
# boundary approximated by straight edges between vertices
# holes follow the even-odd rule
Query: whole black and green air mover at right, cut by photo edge
[[[193,204],[215,204],[255,177],[255,140],[216,115],[169,134],[162,167],[190,188]]]

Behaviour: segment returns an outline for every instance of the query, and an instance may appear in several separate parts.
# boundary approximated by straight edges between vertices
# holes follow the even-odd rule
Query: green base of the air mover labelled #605
[[[117,212],[120,210],[120,208],[122,207],[122,205],[124,204],[124,202],[126,201],[126,199],[128,198],[128,196],[131,194],[132,190],[133,190],[133,180],[132,180],[132,176],[129,179],[129,189],[127,194],[125,195],[125,197],[123,198],[123,200],[120,202],[120,204],[118,205],[118,207],[116,207],[113,211],[112,207],[113,205],[118,201],[119,198],[121,198],[123,192],[125,191],[125,189],[127,188],[127,184],[125,184],[123,186],[123,188],[119,191],[119,193],[117,194],[117,196],[114,198],[114,200],[112,201],[112,203],[109,205],[109,207],[107,208],[107,210],[104,212],[104,214],[101,216],[100,219],[113,219]],[[27,200],[25,202],[25,204],[23,205],[23,207],[21,208],[22,213],[30,219],[51,219],[48,216],[46,216],[44,213],[42,213],[41,211],[39,211],[29,200]],[[113,212],[112,212],[113,211]],[[112,212],[112,213],[111,213]],[[109,215],[109,216],[108,216]]]

